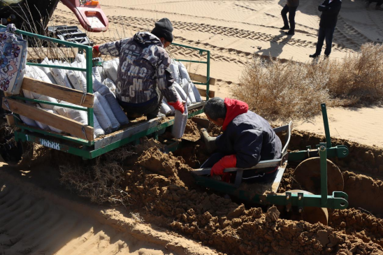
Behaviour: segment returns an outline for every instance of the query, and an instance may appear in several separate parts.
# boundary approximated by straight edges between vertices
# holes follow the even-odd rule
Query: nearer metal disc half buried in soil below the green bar
[[[299,189],[294,189],[289,191],[291,193],[303,193],[305,195],[312,195],[312,193],[308,191],[303,191]],[[284,193],[285,194],[285,193]],[[328,224],[328,211],[327,208],[321,207],[304,207],[301,212],[299,212],[299,208],[291,207],[287,212],[287,207],[284,205],[278,205],[278,210],[281,212],[281,217],[283,219],[291,219],[294,221],[307,221],[310,224],[316,224],[320,222],[321,224]]]

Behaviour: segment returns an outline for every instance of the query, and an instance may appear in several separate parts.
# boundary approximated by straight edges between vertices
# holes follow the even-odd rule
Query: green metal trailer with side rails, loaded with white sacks
[[[61,41],[57,38],[49,38],[49,37],[41,36],[38,34],[32,34],[27,31],[17,30],[16,33],[22,34],[23,36],[43,40],[43,41],[50,41],[52,43],[59,43],[61,45],[66,45],[67,48],[78,48],[79,51],[85,52],[86,68],[73,68],[70,66],[52,66],[52,65],[37,64],[32,62],[27,62],[27,65],[42,66],[42,67],[48,67],[48,68],[62,68],[66,70],[86,72],[86,80],[87,80],[86,93],[87,94],[84,93],[84,96],[87,96],[87,95],[90,96],[93,94],[92,47],[87,45],[80,45],[77,43]],[[204,85],[206,87],[205,90],[206,90],[206,101],[207,101],[209,99],[209,89],[210,89],[210,51],[203,50],[200,48],[189,47],[187,45],[180,45],[176,43],[173,43],[173,45],[176,45],[182,48],[187,48],[189,50],[196,50],[198,54],[200,54],[201,57],[205,59],[204,61],[187,60],[187,59],[176,59],[176,60],[206,65],[205,82],[194,82],[194,84]],[[36,86],[38,86],[38,84],[36,84]],[[31,126],[22,124],[22,122],[20,122],[20,117],[17,114],[16,108],[13,109],[12,106],[10,106],[11,101],[12,102],[13,101],[19,101],[19,102],[31,101],[34,103],[59,105],[64,108],[71,108],[75,110],[85,111],[87,112],[87,118],[88,118],[87,125],[82,126],[82,129],[83,129],[82,131],[85,135],[85,138],[75,138],[73,136],[66,136],[60,133],[44,131],[42,129],[37,129]],[[146,122],[128,124],[127,126],[124,127],[124,129],[120,129],[119,131],[109,134],[107,136],[104,136],[103,138],[96,138],[96,139],[87,138],[87,132],[85,131],[85,129],[87,129],[87,127],[92,127],[92,128],[94,127],[93,108],[81,106],[81,102],[75,103],[75,104],[77,105],[67,105],[63,103],[52,103],[52,102],[40,101],[36,99],[27,99],[20,95],[8,95],[4,97],[2,105],[4,109],[10,110],[11,112],[13,112],[13,115],[15,117],[15,126],[20,128],[20,131],[15,131],[16,141],[20,140],[22,142],[38,143],[40,145],[43,145],[45,147],[50,147],[55,150],[61,150],[63,152],[68,152],[70,154],[82,156],[83,159],[94,159],[96,156],[100,156],[101,154],[110,152],[111,150],[115,150],[116,148],[126,145],[127,143],[132,143],[132,142],[137,143],[139,139],[142,138],[143,136],[148,136],[153,134],[154,137],[157,138],[158,133],[160,131],[162,131],[163,129],[166,129],[168,126],[172,126],[174,123],[173,117],[166,118],[165,120],[161,118],[155,118]],[[194,117],[198,114],[201,114],[203,112],[204,104],[205,104],[205,101],[188,105],[187,108],[189,110],[189,117]],[[33,117],[31,117],[31,119],[33,119]]]

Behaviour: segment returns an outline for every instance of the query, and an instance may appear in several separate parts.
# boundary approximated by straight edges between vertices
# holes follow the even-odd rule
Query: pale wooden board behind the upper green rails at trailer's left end
[[[78,53],[78,48],[66,47],[48,47],[48,48],[28,48],[28,60],[42,60],[45,57],[48,59],[73,59]]]

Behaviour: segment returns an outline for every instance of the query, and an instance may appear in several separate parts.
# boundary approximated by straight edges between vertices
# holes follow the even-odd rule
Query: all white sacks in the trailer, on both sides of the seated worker
[[[111,59],[104,61],[103,66],[94,66],[92,68],[92,80],[94,90],[94,136],[99,137],[103,134],[111,133],[120,128],[121,125],[128,124],[129,120],[127,115],[122,111],[120,104],[115,99],[116,81],[117,81],[117,68],[120,59]],[[86,60],[83,54],[77,54],[72,63],[66,61],[51,61],[45,58],[42,64],[55,65],[55,66],[71,66],[77,68],[85,68]],[[86,72],[82,71],[68,71],[66,69],[48,68],[27,66],[26,77],[34,78],[44,82],[54,83],[56,85],[77,89],[82,92],[87,91]],[[178,99],[186,102],[187,105],[202,101],[198,89],[193,84],[192,80],[187,73],[187,68],[179,62],[172,60],[171,69],[175,82],[173,86],[178,94]],[[41,101],[50,101],[53,103],[64,103],[71,105],[71,103],[59,101],[49,96],[36,94],[23,89],[24,96],[28,99],[38,99]],[[34,104],[28,102],[30,104]],[[82,124],[87,124],[87,112],[80,110],[73,110],[70,108],[63,108],[60,106],[48,105],[40,103],[36,105],[43,110],[74,119]],[[186,106],[186,105],[185,105]],[[166,99],[163,100],[161,105],[161,113],[165,115],[175,114],[175,110],[171,105],[168,105]],[[25,116],[20,116],[22,121],[29,125],[39,127],[41,129],[55,131],[62,133],[61,130],[55,129],[52,126],[47,126],[41,122],[36,122]]]

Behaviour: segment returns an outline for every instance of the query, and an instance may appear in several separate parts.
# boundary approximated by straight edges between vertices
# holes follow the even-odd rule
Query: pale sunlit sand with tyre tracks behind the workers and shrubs
[[[173,22],[174,43],[210,50],[210,73],[217,79],[210,89],[216,96],[230,96],[239,82],[244,64],[253,54],[292,61],[310,61],[315,52],[321,1],[301,0],[296,13],[296,34],[286,36],[280,10],[285,0],[270,1],[171,1],[109,0],[101,1],[110,22],[103,34],[90,34],[96,43],[129,37],[137,31],[150,31],[156,20],[168,17]],[[371,6],[375,6],[373,3]],[[383,41],[382,11],[364,8],[364,1],[343,1],[333,38],[332,59],[359,50],[366,42]],[[73,13],[59,3],[55,24],[78,24]],[[196,59],[198,52],[172,46],[169,51],[177,59]],[[201,60],[205,59],[200,57]],[[205,75],[203,64],[187,66],[189,72]],[[287,105],[288,107],[288,105]],[[383,108],[337,108],[328,110],[331,133],[366,145],[383,145]],[[320,117],[310,124],[298,124],[305,131],[323,131]],[[335,130],[336,129],[336,130]]]

